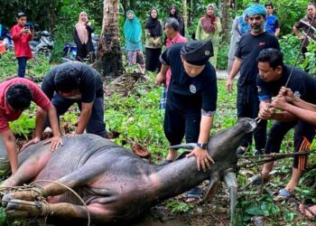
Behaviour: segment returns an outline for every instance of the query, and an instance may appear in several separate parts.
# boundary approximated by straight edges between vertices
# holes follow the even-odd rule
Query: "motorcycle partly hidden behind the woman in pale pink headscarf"
[[[88,61],[90,63],[96,61],[98,52],[98,34],[91,33],[91,39],[93,44],[93,52],[89,52],[87,57],[83,61]],[[77,45],[75,42],[66,42],[62,52],[61,61],[77,61]]]

